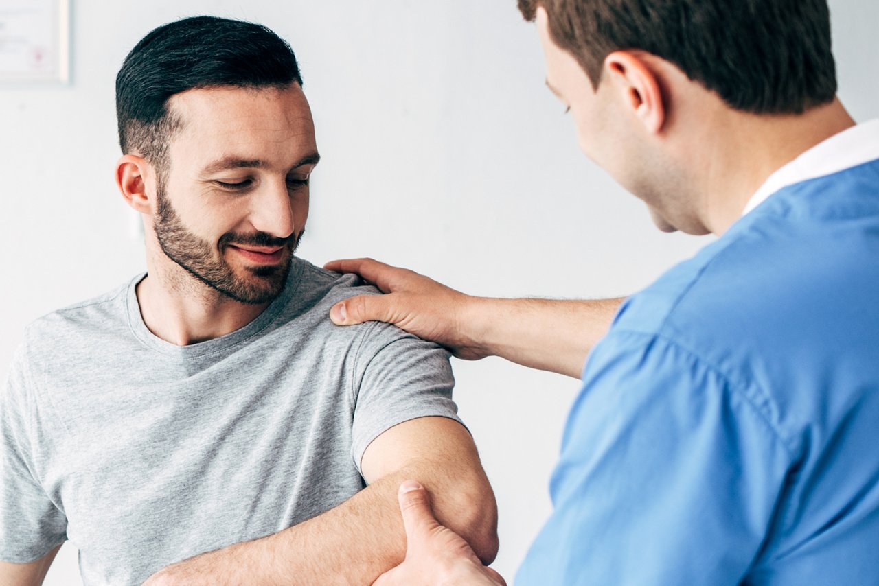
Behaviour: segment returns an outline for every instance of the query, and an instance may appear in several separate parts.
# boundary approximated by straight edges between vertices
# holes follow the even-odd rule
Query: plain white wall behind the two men
[[[113,82],[156,25],[257,20],[301,61],[323,162],[301,256],[369,255],[469,293],[600,297],[646,286],[707,242],[663,235],[578,152],[543,87],[534,25],[506,2],[74,0],[73,83],[0,86],[0,376],[27,322],[142,271],[113,184]],[[875,0],[831,1],[840,94],[879,114]],[[457,399],[500,508],[512,577],[548,515],[548,477],[578,385],[499,359],[455,362]],[[76,551],[47,579],[79,583]]]

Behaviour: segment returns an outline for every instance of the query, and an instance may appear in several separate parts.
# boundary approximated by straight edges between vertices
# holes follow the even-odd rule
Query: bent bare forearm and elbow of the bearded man
[[[403,561],[406,539],[396,495],[408,478],[418,478],[431,492],[440,522],[490,561],[497,553],[490,488],[485,495],[478,479],[457,475],[437,462],[412,462],[318,517],[183,562],[188,575],[174,583],[370,584]]]

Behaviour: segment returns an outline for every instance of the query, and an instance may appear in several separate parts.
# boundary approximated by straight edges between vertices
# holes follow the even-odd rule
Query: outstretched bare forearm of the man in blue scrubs
[[[623,300],[471,298],[462,321],[486,354],[579,378]]]

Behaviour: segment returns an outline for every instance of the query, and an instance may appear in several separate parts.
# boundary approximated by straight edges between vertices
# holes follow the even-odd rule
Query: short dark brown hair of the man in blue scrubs
[[[826,0],[519,0],[597,89],[608,54],[641,49],[677,65],[730,107],[802,113],[837,90]]]

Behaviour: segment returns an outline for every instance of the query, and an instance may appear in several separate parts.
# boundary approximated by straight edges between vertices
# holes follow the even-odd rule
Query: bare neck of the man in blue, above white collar
[[[712,128],[715,148],[702,151],[702,217],[706,227],[722,235],[775,171],[803,152],[846,128],[854,120],[834,100],[799,115],[752,115],[730,112]]]

